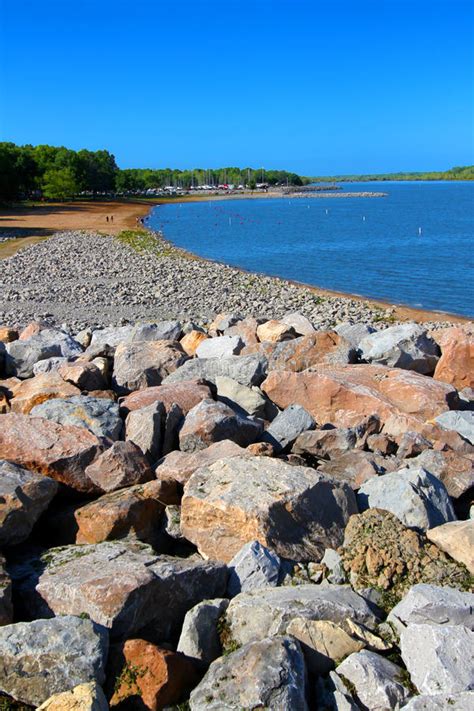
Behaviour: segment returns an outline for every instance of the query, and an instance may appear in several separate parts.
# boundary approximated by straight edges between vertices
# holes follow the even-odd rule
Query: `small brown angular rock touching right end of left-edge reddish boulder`
[[[130,441],[114,442],[85,473],[100,491],[115,491],[153,479],[147,458],[140,447]]]

